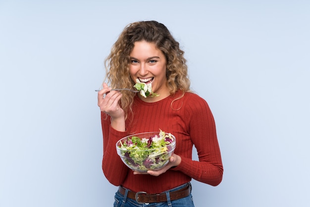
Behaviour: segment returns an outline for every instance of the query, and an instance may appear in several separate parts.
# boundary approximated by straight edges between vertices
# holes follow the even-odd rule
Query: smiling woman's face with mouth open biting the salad
[[[152,83],[152,90],[158,93],[158,97],[148,97],[162,99],[170,95],[166,86],[167,61],[161,50],[157,49],[154,43],[146,41],[135,42],[130,53],[129,72],[131,78],[136,82]],[[140,94],[139,94],[140,95]],[[145,100],[145,99],[144,99]],[[157,100],[157,99],[156,99]]]

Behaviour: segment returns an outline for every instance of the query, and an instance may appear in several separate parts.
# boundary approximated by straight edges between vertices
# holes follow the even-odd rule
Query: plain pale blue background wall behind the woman
[[[197,207],[309,207],[308,0],[0,0],[0,207],[112,206],[97,93],[130,22],[180,42],[224,177]],[[197,159],[194,150],[194,159]]]

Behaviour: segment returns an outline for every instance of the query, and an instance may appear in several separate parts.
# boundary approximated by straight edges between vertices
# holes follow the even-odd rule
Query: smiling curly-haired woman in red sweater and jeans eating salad
[[[183,54],[163,24],[141,21],[125,27],[106,59],[109,86],[103,83],[98,105],[102,112],[103,173],[111,184],[119,186],[114,207],[194,207],[192,178],[212,186],[222,180],[214,119],[207,102],[190,91]],[[159,96],[111,91],[132,88],[137,79],[151,83]],[[116,153],[117,140],[159,129],[176,137],[169,163],[146,174],[130,170]],[[192,160],[193,144],[199,161]]]

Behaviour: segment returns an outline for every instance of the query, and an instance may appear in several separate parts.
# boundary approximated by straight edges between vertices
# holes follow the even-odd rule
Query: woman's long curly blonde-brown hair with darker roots
[[[105,59],[105,78],[111,88],[131,88],[135,82],[129,73],[130,53],[137,41],[154,43],[162,51],[167,61],[166,77],[170,94],[177,90],[190,91],[190,80],[187,72],[184,51],[172,37],[167,27],[157,21],[139,21],[128,24],[111,48],[111,53]],[[120,105],[127,118],[132,113],[132,103],[135,94],[122,92]],[[180,96],[179,98],[183,97]],[[179,99],[177,98],[177,99]]]

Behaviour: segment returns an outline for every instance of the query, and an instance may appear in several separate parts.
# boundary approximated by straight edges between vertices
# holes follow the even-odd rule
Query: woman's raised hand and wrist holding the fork
[[[124,110],[119,105],[122,94],[110,90],[111,88],[103,83],[103,89],[98,92],[98,106],[100,111],[111,117],[111,126],[117,131],[124,132],[126,130]]]

